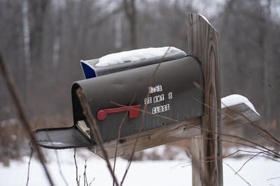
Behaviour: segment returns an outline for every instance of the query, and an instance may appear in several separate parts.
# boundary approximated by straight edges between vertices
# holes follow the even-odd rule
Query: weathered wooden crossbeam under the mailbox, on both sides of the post
[[[239,112],[239,114],[237,114],[237,112]],[[222,109],[223,127],[248,123],[248,119],[246,118],[249,118],[251,121],[257,121],[260,119],[260,116],[256,114],[255,111],[251,110],[246,104],[237,104],[235,106]],[[201,119],[194,118],[190,121],[186,121],[185,123],[174,123],[155,130],[142,132],[139,136],[136,151],[200,135],[200,124]],[[117,156],[130,155],[130,153],[132,153],[136,137],[137,134],[134,134],[120,139],[118,143]],[[104,148],[106,148],[110,158],[115,155],[116,143],[116,140],[104,143]],[[94,146],[93,148],[90,148],[90,150],[102,157],[102,151],[98,146]]]

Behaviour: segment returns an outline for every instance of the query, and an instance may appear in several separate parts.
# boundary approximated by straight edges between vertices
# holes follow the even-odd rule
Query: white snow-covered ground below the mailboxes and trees
[[[162,148],[161,146],[154,149],[162,152]],[[55,151],[45,150],[45,153],[47,153],[48,169],[55,185],[65,185],[62,176],[59,174]],[[57,155],[68,185],[76,185],[73,150],[57,150]],[[104,160],[88,150],[78,150],[76,156],[81,185],[83,185],[85,159],[87,159],[88,182],[91,182],[94,178],[92,185],[112,185],[112,178]],[[248,157],[223,160],[226,163],[223,164],[224,185],[248,185],[239,176],[235,175],[235,172],[227,165],[230,164],[233,169],[238,170],[246,160],[248,160]],[[26,185],[28,161],[29,157],[24,157],[22,161],[10,162],[9,167],[0,164],[0,185]],[[124,185],[192,185],[192,170],[191,166],[188,166],[189,163],[190,159],[183,150],[179,155],[176,155],[176,160],[132,162]],[[127,160],[117,159],[116,175],[118,180],[121,180],[126,166]],[[251,185],[280,185],[280,178],[271,179],[280,176],[280,163],[263,157],[256,157],[248,162],[239,174]],[[29,185],[48,185],[41,164],[35,159],[31,160]]]

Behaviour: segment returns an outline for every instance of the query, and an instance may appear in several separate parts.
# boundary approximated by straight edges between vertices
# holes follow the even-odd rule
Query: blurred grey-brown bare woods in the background
[[[215,5],[215,6],[214,6]],[[134,48],[186,48],[186,17],[221,34],[222,95],[249,98],[274,131],[280,104],[280,1],[0,0],[0,52],[31,118],[71,119],[81,59]],[[14,117],[0,76],[0,121]]]

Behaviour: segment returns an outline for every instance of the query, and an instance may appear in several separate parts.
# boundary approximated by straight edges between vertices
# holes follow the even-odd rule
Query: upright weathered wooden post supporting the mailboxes
[[[197,14],[189,15],[187,29],[188,53],[199,59],[204,75],[201,134],[192,139],[193,185],[223,185],[218,32]]]

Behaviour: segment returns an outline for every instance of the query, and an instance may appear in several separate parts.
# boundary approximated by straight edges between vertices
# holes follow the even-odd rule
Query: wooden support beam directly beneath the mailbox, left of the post
[[[148,130],[141,132],[139,135],[138,143],[135,151],[144,150],[162,144],[167,144],[186,137],[193,137],[200,132],[200,118],[194,118],[189,121],[174,123],[172,125],[166,125],[154,130]],[[134,146],[134,142],[137,139],[137,134],[133,134],[129,137],[123,137],[119,140],[117,156],[130,155]],[[113,140],[104,144],[109,157],[114,157],[117,141]],[[90,149],[93,153],[102,157],[102,152],[99,146],[94,146]]]

